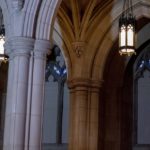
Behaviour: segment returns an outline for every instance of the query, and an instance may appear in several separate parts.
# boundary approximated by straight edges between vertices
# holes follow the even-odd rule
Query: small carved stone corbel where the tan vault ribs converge
[[[85,50],[85,45],[85,42],[72,43],[73,51],[76,53],[77,57],[80,57],[83,54],[83,51]]]

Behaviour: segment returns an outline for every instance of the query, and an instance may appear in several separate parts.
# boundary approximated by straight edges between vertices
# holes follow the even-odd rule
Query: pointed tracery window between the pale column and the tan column
[[[43,120],[43,149],[67,150],[69,91],[67,68],[58,46],[47,56]]]

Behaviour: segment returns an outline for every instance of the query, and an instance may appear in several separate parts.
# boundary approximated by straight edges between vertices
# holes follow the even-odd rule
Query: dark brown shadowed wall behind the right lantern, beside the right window
[[[141,45],[149,40],[149,18],[140,18],[137,24],[138,55]],[[130,150],[133,149],[133,64],[137,56],[120,56],[118,42],[114,43],[106,59],[103,74],[104,124],[100,129],[104,137],[102,146],[104,150]]]

